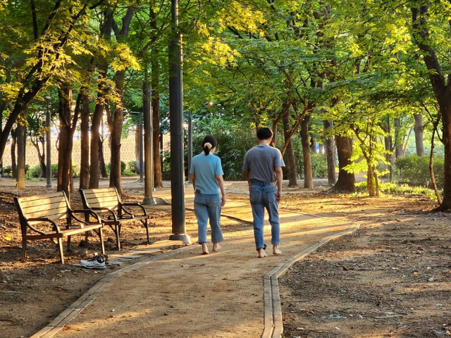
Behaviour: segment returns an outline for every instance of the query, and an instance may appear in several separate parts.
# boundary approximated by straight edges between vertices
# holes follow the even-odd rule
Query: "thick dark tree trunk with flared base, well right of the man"
[[[338,172],[337,184],[335,184],[332,191],[354,193],[356,191],[354,173],[348,173],[343,169],[346,165],[350,165],[352,163],[350,137],[342,137],[337,135],[335,136],[335,144],[337,144],[338,168],[340,171]]]

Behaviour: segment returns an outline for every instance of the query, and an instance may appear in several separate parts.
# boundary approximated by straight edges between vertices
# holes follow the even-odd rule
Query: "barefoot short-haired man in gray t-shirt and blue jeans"
[[[266,257],[264,244],[264,212],[268,211],[271,224],[273,254],[280,255],[280,224],[278,203],[282,198],[282,154],[269,146],[273,132],[267,127],[257,131],[258,146],[249,149],[245,155],[242,170],[249,184],[249,201],[254,216],[254,238],[259,258]],[[276,189],[277,185],[277,189]]]

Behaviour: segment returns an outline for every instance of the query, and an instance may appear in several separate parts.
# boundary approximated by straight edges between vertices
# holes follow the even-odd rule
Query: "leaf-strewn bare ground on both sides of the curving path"
[[[28,261],[22,263],[20,227],[13,204],[17,192],[11,182],[1,180],[0,337],[30,337],[104,277],[104,272],[70,265],[85,257],[77,246],[81,237],[74,241],[73,251],[65,254],[66,265],[58,264],[58,254],[49,241],[32,243]],[[242,185],[226,184],[229,201],[247,201],[246,194],[237,189],[243,191]],[[123,187],[125,201],[142,201],[142,184],[130,180]],[[321,246],[280,278],[285,337],[451,335],[451,216],[433,212],[434,201],[418,195],[371,199],[328,194],[326,187],[284,187],[284,191],[280,208],[345,218],[359,225],[357,232]],[[42,184],[26,191],[44,192]],[[163,199],[157,202],[148,209],[152,242],[165,241],[171,234],[171,206]],[[76,193],[72,205],[80,206]],[[248,223],[232,218],[222,218],[221,224],[231,235],[249,230]],[[190,211],[186,227],[187,234],[197,237]],[[107,253],[116,252],[113,233],[105,233]],[[145,244],[144,238],[142,226],[128,227],[123,232],[123,250]],[[90,241],[92,253],[99,243],[95,237]],[[163,251],[177,247],[167,246]],[[119,267],[111,267],[109,272],[114,269]],[[245,294],[245,289],[242,292]],[[261,301],[256,304],[261,306]]]

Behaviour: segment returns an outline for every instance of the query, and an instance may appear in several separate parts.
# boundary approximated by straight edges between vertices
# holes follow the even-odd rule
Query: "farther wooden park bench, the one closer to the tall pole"
[[[118,250],[121,250],[121,227],[124,223],[140,221],[147,231],[147,243],[149,239],[149,215],[146,209],[139,203],[122,203],[118,191],[113,188],[102,189],[80,189],[83,207],[95,211],[100,215],[102,223],[108,225],[116,234]],[[128,208],[125,208],[128,207]],[[142,209],[142,215],[137,215],[130,211],[130,207]]]

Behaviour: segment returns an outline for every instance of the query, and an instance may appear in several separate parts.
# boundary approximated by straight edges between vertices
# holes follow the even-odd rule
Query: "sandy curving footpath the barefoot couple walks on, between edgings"
[[[187,207],[191,204],[188,194]],[[223,214],[252,220],[249,205],[240,202],[228,203]],[[226,232],[217,253],[202,256],[200,246],[187,246],[119,275],[87,308],[74,308],[78,315],[55,337],[260,337],[262,277],[323,237],[351,226],[338,218],[284,211],[280,222],[282,256],[269,251],[268,258],[256,257],[252,225]],[[266,228],[266,242],[269,234]]]

